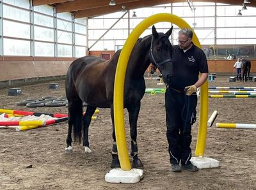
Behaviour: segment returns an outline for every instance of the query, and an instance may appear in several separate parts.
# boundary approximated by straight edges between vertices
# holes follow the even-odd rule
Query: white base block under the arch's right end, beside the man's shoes
[[[197,166],[198,169],[220,167],[220,161],[212,159],[211,157],[191,157],[190,161]]]

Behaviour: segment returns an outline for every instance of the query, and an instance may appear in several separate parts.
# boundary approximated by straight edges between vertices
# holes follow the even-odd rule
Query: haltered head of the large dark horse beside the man
[[[152,27],[152,40],[149,52],[150,61],[162,73],[165,83],[170,83],[173,77],[172,44],[169,40],[172,28],[164,34],[157,33],[156,27]]]

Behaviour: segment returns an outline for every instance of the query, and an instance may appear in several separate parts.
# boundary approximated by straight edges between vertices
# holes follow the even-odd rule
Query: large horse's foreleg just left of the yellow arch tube
[[[113,146],[112,146],[112,162],[111,168],[120,168],[120,162],[118,159],[118,152],[116,147],[116,133],[115,133],[115,123],[114,123],[114,112],[113,112],[113,105],[111,106],[111,120],[112,120],[112,138],[113,138]]]

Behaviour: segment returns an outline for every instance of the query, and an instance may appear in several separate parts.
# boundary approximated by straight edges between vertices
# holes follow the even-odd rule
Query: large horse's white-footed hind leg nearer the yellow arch
[[[90,153],[92,150],[89,147],[89,126],[92,121],[92,115],[95,112],[96,107],[95,106],[89,106],[87,105],[86,112],[84,113],[83,116],[83,121],[84,121],[84,152]]]

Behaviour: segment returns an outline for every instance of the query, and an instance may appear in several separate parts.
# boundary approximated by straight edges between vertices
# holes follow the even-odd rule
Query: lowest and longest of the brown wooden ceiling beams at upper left
[[[170,3],[170,0],[140,0],[136,3],[124,3],[126,10],[132,10],[136,8],[143,8],[148,6],[154,6],[158,4],[166,4]],[[99,8],[92,8],[87,10],[81,10],[74,12],[74,18],[83,18],[83,17],[97,17],[100,15],[106,15],[109,13],[115,13],[122,10],[122,5],[116,6],[102,6]]]

